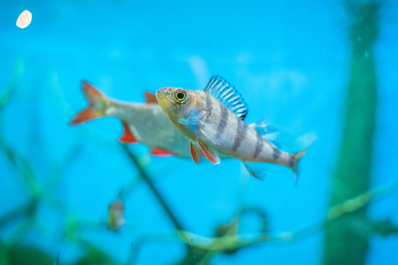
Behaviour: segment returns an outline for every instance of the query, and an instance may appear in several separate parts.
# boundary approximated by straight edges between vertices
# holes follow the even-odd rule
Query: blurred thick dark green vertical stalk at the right
[[[348,1],[347,7],[351,14],[351,69],[331,205],[369,189],[377,106],[372,46],[378,34],[379,4],[375,1]],[[324,239],[324,265],[365,264],[368,239],[359,231],[361,223],[367,219],[366,211],[364,207],[328,227]]]

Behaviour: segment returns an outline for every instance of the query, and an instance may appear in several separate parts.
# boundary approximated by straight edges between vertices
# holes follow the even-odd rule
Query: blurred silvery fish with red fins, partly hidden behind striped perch
[[[104,116],[117,117],[123,127],[120,142],[143,143],[157,157],[191,157],[188,137],[166,117],[154,93],[144,92],[145,103],[136,103],[111,99],[86,81],[82,82],[82,91],[89,104],[72,118],[71,125]]]

